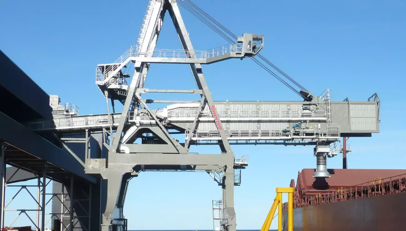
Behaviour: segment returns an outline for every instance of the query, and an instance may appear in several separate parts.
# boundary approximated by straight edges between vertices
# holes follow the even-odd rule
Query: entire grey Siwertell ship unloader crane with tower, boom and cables
[[[32,121],[27,125],[36,132],[57,132],[63,143],[85,143],[86,158],[82,162],[85,172],[107,181],[103,231],[125,229],[123,205],[128,181],[140,171],[157,170],[209,173],[222,186],[222,230],[235,231],[233,186],[240,185],[240,170],[248,163],[245,158],[235,157],[231,144],[314,145],[313,154],[317,157],[314,176],[323,178],[329,177],[327,157],[336,155],[331,143],[342,136],[370,136],[379,132],[380,101],[377,94],[365,102],[334,102],[331,101],[330,90],[316,97],[300,84],[296,84],[300,90],[295,90],[277,77],[304,101],[214,101],[202,66],[230,58],[252,58],[261,66],[263,64],[255,57],[263,48],[264,38],[254,34],[233,37],[231,33],[235,40],[227,46],[194,50],[178,3],[188,11],[200,11],[189,0],[150,0],[137,44],[131,45],[114,63],[97,66],[96,84],[106,97],[107,114],[79,116],[74,108],[65,108],[71,113],[53,120]],[[175,25],[183,50],[155,49],[166,12]],[[206,18],[211,17],[206,15]],[[209,20],[204,20],[209,23]],[[210,19],[216,22],[213,20]],[[222,28],[221,24],[214,24]],[[266,60],[263,56],[259,57]],[[267,60],[265,62],[268,63]],[[151,63],[189,65],[197,89],[144,88]],[[125,71],[132,65],[135,69],[133,75]],[[261,67],[269,70],[264,65]],[[276,76],[275,73],[273,75]],[[197,94],[201,100],[171,101],[142,97],[143,93],[151,92]],[[108,99],[111,100],[113,113],[110,113]],[[115,101],[123,104],[121,113],[115,113]],[[172,105],[151,110],[147,105],[150,103]],[[185,141],[174,139],[172,130],[185,134]],[[88,137],[89,133],[96,131],[104,134],[108,158],[90,157]],[[72,132],[84,132],[86,138],[64,138]],[[221,154],[189,153],[192,144],[219,145]],[[76,156],[73,151],[70,152]]]

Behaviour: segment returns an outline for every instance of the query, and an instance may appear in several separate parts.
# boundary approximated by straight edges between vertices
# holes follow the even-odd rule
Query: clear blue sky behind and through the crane
[[[0,1],[0,49],[44,91],[76,104],[80,114],[106,113],[105,99],[95,85],[95,67],[116,60],[136,43],[147,2]],[[401,144],[406,135],[404,121],[399,120],[406,118],[405,1],[194,2],[236,35],[264,35],[261,54],[316,95],[330,88],[335,101],[346,97],[363,101],[378,92],[380,134],[350,138],[348,167],[405,168]],[[195,49],[226,44],[186,10],[181,8],[181,13]],[[181,48],[169,17],[157,48]],[[300,100],[250,60],[207,65],[203,73],[214,100]],[[145,87],[196,86],[186,65],[155,64]],[[233,146],[237,155],[249,154],[242,185],[235,187],[239,229],[261,227],[275,188],[288,186],[299,170],[315,166],[312,150]],[[216,153],[218,149],[193,147],[191,151]],[[341,156],[328,159],[328,168],[340,167]],[[6,199],[14,195],[14,189],[7,190]],[[221,199],[221,190],[205,173],[142,173],[130,183],[125,216],[129,229],[212,229],[212,199]],[[22,196],[13,203],[15,208],[28,206],[30,199]],[[6,223],[11,220],[6,214]]]

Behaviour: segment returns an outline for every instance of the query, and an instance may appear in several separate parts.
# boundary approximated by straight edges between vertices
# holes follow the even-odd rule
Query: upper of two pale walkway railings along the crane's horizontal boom
[[[168,112],[168,119],[193,118],[196,116],[197,110],[171,110]],[[212,112],[201,112],[203,118],[213,118]],[[268,111],[268,110],[219,110],[218,117],[220,118],[281,118],[281,119],[326,119],[326,111]]]

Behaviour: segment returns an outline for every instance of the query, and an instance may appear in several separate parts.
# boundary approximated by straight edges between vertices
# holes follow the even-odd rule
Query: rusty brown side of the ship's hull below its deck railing
[[[406,192],[296,208],[294,231],[397,231],[406,229]],[[287,210],[283,230],[287,230]]]

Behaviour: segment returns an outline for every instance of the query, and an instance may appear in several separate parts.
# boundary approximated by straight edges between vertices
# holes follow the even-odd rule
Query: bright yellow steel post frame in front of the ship
[[[261,231],[269,230],[272,219],[274,218],[276,207],[278,207],[278,231],[282,231],[282,193],[288,194],[287,230],[293,231],[293,192],[294,188],[276,188],[274,203],[268,212],[265,222],[263,222]]]

